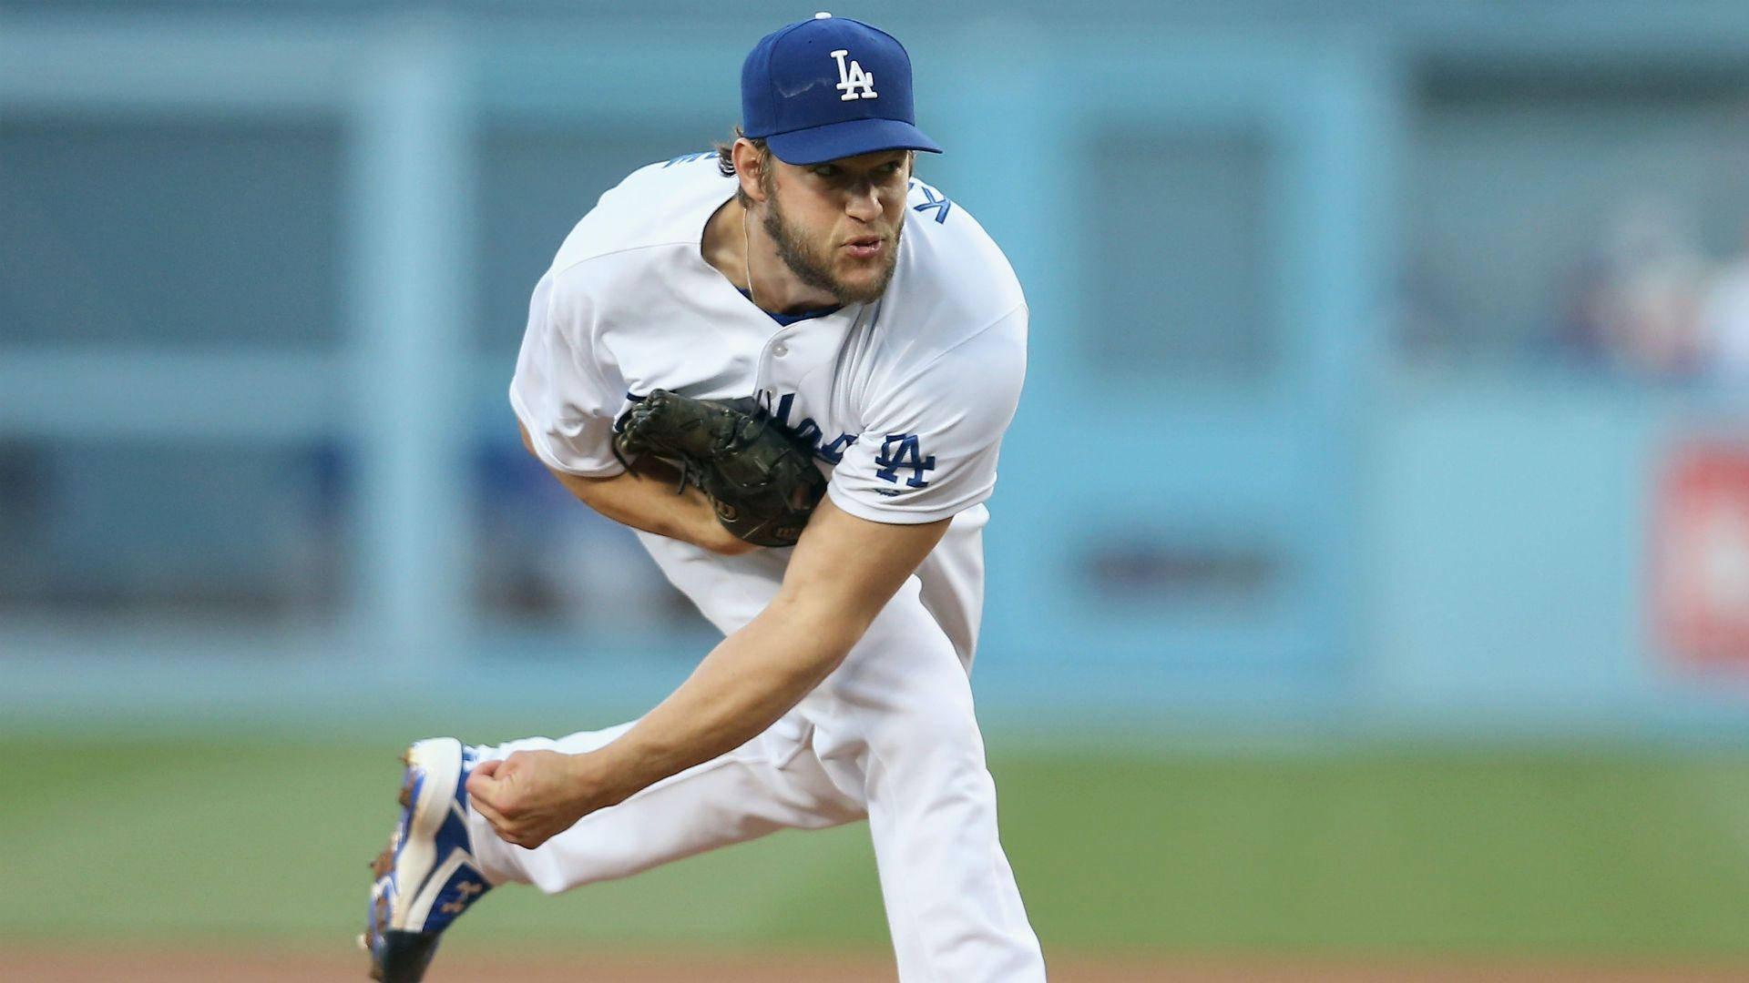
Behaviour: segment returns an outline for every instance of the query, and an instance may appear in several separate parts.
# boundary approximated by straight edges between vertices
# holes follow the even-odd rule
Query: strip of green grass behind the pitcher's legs
[[[7,750],[0,946],[359,931],[392,743]],[[1058,952],[1749,959],[1744,754],[997,752],[992,770]],[[505,889],[463,929],[453,946],[885,946],[861,824],[563,897]]]

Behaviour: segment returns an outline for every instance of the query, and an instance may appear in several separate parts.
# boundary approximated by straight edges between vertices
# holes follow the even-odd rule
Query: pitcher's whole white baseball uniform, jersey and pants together
[[[535,453],[556,471],[617,474],[614,420],[631,401],[654,388],[754,395],[813,444],[838,507],[880,523],[953,523],[845,661],[766,733],[535,850],[505,847],[470,812],[481,869],[558,892],[773,829],[866,817],[904,983],[1044,983],[967,679],[983,500],[1027,360],[1020,285],[971,215],[913,182],[887,294],[782,325],[703,259],[705,224],[735,187],[715,154],[652,164],[565,240],[535,287],[511,383]],[[724,633],[770,603],[791,556],[638,537]],[[479,756],[581,754],[630,726]]]

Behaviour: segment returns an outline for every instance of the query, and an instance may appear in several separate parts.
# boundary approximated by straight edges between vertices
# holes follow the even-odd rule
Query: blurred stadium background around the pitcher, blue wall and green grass
[[[974,684],[1063,978],[1749,973],[1749,5],[827,9],[1032,301]],[[345,959],[404,740],[708,647],[504,390],[575,219],[812,10],[0,3],[0,976]],[[848,829],[446,945],[885,927]]]

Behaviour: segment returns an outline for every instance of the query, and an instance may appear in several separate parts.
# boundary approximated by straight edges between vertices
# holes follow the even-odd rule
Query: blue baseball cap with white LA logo
[[[815,14],[759,38],[742,63],[742,133],[777,159],[819,164],[941,147],[911,114],[911,56],[887,31]]]

